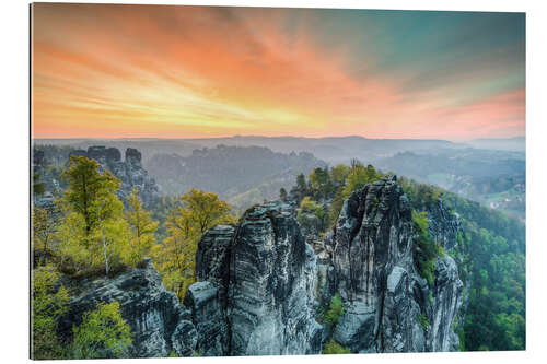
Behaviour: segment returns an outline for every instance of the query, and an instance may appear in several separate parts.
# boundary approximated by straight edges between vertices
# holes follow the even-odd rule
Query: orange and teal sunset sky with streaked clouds
[[[34,138],[525,133],[524,13],[33,5]]]

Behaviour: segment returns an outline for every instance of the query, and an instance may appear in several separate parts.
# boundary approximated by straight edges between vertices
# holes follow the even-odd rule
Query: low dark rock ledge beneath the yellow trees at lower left
[[[189,356],[194,353],[197,336],[190,312],[174,293],[164,289],[152,263],[144,262],[144,268],[112,280],[78,282],[78,289],[83,293],[72,298],[69,313],[59,324],[63,337],[70,337],[72,326],[81,324],[84,312],[95,309],[98,303],[116,300],[121,317],[131,327],[130,357],[166,356],[172,352]]]

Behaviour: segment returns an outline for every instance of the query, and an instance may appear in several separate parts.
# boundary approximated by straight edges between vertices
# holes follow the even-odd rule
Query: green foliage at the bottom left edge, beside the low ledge
[[[32,290],[32,353],[33,359],[59,359],[62,347],[57,325],[68,309],[69,295],[63,286],[55,291],[59,274],[51,267],[33,270]]]

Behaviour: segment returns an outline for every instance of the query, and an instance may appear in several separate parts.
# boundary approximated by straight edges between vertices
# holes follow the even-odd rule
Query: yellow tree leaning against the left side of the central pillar
[[[154,262],[167,290],[183,300],[195,282],[196,250],[201,235],[219,223],[233,223],[230,206],[214,193],[191,189],[178,199],[167,216],[167,237],[154,248]]]

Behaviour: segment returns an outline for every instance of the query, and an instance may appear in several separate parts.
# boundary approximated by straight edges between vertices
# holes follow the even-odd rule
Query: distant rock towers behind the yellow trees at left
[[[125,161],[121,161],[121,153],[117,148],[97,145],[90,146],[86,151],[75,150],[70,155],[93,158],[118,177],[121,181],[118,197],[124,203],[127,203],[127,197],[131,193],[132,188],[139,190],[139,197],[147,207],[160,199],[160,186],[142,168],[141,153],[136,149],[128,148],[126,150]]]

